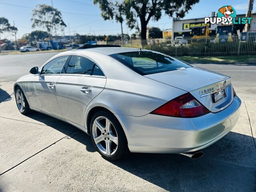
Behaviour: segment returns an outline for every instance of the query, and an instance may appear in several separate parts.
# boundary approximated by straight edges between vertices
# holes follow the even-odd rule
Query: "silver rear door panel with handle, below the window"
[[[56,98],[66,120],[84,126],[84,112],[106,84],[106,77],[63,74],[57,82]]]

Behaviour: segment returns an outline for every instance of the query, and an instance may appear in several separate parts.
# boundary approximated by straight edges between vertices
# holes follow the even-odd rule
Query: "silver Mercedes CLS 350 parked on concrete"
[[[200,150],[236,124],[231,78],[150,50],[84,45],[62,52],[14,84],[18,110],[68,122],[102,157]]]

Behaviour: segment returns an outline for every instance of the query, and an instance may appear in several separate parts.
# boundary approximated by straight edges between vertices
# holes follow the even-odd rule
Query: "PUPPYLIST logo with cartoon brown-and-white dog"
[[[218,10],[217,17],[205,17],[204,24],[222,24],[222,25],[231,25],[231,24],[250,24],[251,17],[238,17],[236,18],[236,10],[230,5],[224,5]]]

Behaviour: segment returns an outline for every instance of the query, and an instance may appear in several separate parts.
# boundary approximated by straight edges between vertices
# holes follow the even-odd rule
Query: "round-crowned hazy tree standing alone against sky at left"
[[[37,5],[32,11],[32,28],[41,27],[45,29],[48,34],[52,35],[54,27],[56,29],[64,30],[66,24],[62,19],[61,12],[50,5]]]

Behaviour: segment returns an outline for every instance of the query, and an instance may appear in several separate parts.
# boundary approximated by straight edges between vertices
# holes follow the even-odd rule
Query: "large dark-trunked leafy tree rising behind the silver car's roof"
[[[146,39],[150,19],[158,21],[163,12],[170,17],[183,18],[197,2],[199,0],[94,0],[94,4],[99,4],[104,19],[112,19],[120,7],[119,12],[126,16],[129,28],[136,28],[139,18],[142,40]]]

